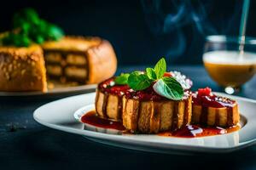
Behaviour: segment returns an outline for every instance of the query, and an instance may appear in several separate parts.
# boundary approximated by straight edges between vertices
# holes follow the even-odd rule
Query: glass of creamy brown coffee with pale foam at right
[[[248,38],[239,51],[238,37],[208,36],[203,63],[210,77],[227,94],[241,90],[241,85],[256,73],[256,38]]]

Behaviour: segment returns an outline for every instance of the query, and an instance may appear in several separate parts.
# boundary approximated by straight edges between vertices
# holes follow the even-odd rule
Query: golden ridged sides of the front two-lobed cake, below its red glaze
[[[121,103],[120,103],[121,100]],[[192,97],[180,101],[140,101],[96,89],[96,112],[99,116],[123,121],[131,133],[159,133],[188,125],[192,116]]]

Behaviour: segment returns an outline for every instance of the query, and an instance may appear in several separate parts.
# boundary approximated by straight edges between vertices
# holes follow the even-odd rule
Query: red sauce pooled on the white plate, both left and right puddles
[[[81,117],[81,122],[102,128],[112,128],[119,131],[125,132],[125,127],[123,126],[122,122],[116,122],[113,120],[105,119],[96,115],[96,111],[90,111],[84,116]],[[201,127],[199,125],[188,125],[177,129],[174,132],[161,132],[158,133],[160,136],[166,137],[179,137],[179,138],[196,138],[196,137],[205,137],[205,136],[212,136],[224,133],[231,133],[235,132],[240,129],[240,125],[234,127]]]

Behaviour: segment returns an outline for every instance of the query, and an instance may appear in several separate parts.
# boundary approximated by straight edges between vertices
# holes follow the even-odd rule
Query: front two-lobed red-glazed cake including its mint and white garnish
[[[100,83],[96,89],[98,116],[122,121],[131,133],[173,131],[188,125],[192,114],[188,90],[191,81],[177,71],[163,70],[158,77],[156,74],[157,69],[148,68]]]

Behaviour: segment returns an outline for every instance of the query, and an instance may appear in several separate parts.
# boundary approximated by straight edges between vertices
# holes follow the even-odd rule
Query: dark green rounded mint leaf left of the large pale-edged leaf
[[[151,80],[140,71],[133,71],[128,78],[128,85],[134,90],[143,90],[151,85]]]

